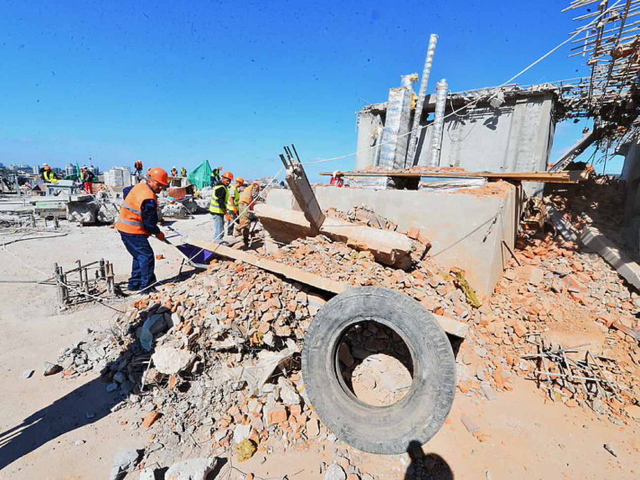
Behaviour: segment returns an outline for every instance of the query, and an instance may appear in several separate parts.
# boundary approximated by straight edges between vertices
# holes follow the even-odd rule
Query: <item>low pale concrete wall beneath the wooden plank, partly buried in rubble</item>
[[[511,258],[504,243],[513,249],[520,191],[507,182],[455,193],[327,186],[314,186],[314,192],[324,210],[367,205],[396,221],[401,230],[419,228],[431,241],[429,255],[444,268],[465,270],[472,287],[483,296],[491,294]],[[291,209],[292,199],[287,190],[273,190],[267,204]]]

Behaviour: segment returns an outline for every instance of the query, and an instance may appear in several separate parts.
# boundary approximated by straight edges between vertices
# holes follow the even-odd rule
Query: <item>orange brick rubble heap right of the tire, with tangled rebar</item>
[[[616,424],[640,419],[637,340],[609,330],[616,320],[637,326],[640,297],[573,244],[547,238],[518,247],[458,356],[458,388],[491,400],[525,376],[552,401]]]

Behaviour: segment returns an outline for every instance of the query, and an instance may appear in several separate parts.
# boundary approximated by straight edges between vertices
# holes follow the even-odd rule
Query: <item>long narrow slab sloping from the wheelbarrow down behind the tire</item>
[[[212,247],[211,244],[206,241],[192,238],[189,238],[189,243],[202,248],[203,250],[207,250],[218,257],[241,260],[242,262],[248,263],[271,273],[283,275],[286,278],[291,278],[291,280],[296,280],[296,282],[300,282],[301,284],[309,285],[316,289],[330,292],[332,294],[340,294],[351,288],[351,285],[344,282],[337,282],[335,280],[331,280],[330,278],[324,278],[323,276],[316,275],[315,273],[310,273],[300,268],[285,265],[280,262],[276,262],[275,260],[260,258],[254,253],[242,252],[241,250],[235,250],[234,248],[230,248],[224,245],[215,245]],[[209,248],[211,248],[211,250],[209,250]],[[436,317],[436,321],[438,321],[438,323],[440,324],[440,326],[442,326],[443,330],[446,333],[461,338],[467,337],[468,325],[466,323],[440,315],[433,315]]]

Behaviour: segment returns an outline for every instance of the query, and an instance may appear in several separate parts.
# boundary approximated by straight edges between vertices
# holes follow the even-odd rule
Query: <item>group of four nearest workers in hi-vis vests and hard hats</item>
[[[234,233],[234,224],[237,222],[237,230],[243,236],[244,245],[248,246],[251,212],[260,193],[260,186],[257,183],[245,185],[242,177],[236,177],[236,181],[231,185],[234,175],[231,172],[223,172],[220,175],[220,170],[221,167],[218,169],[218,180],[213,186],[209,203],[214,225],[213,241],[223,243],[224,221],[227,218],[228,234]],[[129,291],[148,293],[155,290],[155,257],[148,237],[154,235],[160,241],[164,241],[164,234],[157,226],[157,194],[168,184],[168,173],[156,166],[148,170],[145,181],[127,187],[122,192],[124,202],[120,207],[115,227],[127,252],[133,257],[131,277],[127,285]]]

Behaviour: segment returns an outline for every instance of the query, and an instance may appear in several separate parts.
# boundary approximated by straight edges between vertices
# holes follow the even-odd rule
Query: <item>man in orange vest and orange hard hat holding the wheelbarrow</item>
[[[155,290],[154,251],[148,237],[155,235],[157,239],[164,241],[164,234],[157,226],[157,194],[168,184],[166,171],[156,166],[150,168],[145,182],[127,187],[123,191],[124,203],[120,207],[120,216],[115,226],[127,252],[133,257],[129,291],[148,293]]]

